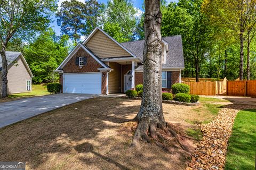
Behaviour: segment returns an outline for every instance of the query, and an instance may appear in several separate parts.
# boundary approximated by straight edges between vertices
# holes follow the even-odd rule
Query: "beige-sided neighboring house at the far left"
[[[30,92],[32,89],[31,78],[33,78],[33,74],[29,69],[29,66],[25,58],[22,56],[20,52],[6,52],[6,58],[8,62],[8,65],[7,65],[8,94]],[[2,58],[0,57],[0,77],[2,77],[1,74],[2,74]],[[2,88],[1,83],[2,81],[0,81],[0,88]]]

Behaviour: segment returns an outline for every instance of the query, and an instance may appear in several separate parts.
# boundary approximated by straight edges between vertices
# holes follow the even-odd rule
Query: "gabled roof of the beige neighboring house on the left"
[[[18,57],[21,58],[21,60],[23,61],[25,67],[27,68],[29,74],[31,77],[33,77],[33,73],[31,72],[28,63],[26,62],[25,58],[23,57],[23,55],[21,54],[21,52],[10,52],[10,51],[6,51],[6,58],[7,58],[7,66],[9,66],[13,61],[15,61]],[[2,67],[2,57],[0,57],[0,71],[2,71],[3,67]]]

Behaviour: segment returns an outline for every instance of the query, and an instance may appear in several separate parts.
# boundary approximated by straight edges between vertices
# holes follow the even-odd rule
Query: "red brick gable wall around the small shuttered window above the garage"
[[[80,69],[76,65],[76,57],[87,57],[86,65]],[[68,63],[62,68],[64,73],[82,73],[82,72],[99,72],[98,68],[102,67],[100,63],[94,60],[92,56],[85,52],[83,48],[79,48],[76,54],[70,58]]]

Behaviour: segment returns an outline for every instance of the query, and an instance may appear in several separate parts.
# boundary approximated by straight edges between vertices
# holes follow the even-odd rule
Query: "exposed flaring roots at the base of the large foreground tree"
[[[142,119],[133,134],[131,147],[137,147],[141,141],[146,141],[147,143],[154,142],[166,151],[176,148],[189,152],[183,142],[183,137],[171,124],[166,123],[164,128],[158,128],[157,124]]]

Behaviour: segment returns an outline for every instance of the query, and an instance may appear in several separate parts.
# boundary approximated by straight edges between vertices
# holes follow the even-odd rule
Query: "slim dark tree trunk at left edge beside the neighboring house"
[[[8,89],[7,89],[7,58],[5,54],[5,46],[2,45],[0,55],[2,57],[2,92],[1,92],[1,97],[5,98],[8,96]]]

